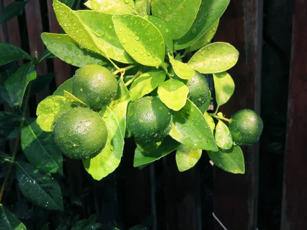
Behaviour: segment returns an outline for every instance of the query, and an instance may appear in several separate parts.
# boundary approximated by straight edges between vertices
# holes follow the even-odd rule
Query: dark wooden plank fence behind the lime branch
[[[2,0],[1,7],[12,2]],[[139,171],[132,164],[135,146],[127,140],[119,169],[91,183],[98,219],[129,227],[152,215],[152,229],[168,230],[307,229],[306,22],[307,0],[231,0],[221,18],[214,40],[240,52],[229,71],[235,94],[221,109],[226,114],[253,109],[265,122],[260,142],[244,148],[245,175],[213,168],[206,156],[184,173],[178,172],[174,155]],[[41,55],[43,31],[60,31],[52,0],[30,0],[23,15],[1,26],[0,39]],[[38,65],[38,75],[48,72],[56,73],[55,79],[31,100],[29,116],[74,69],[55,58]],[[81,162],[67,158],[64,165],[66,182],[81,195],[89,178]],[[86,216],[84,210],[79,213]]]

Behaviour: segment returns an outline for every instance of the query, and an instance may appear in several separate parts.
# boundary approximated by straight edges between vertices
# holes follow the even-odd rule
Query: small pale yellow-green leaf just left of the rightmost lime
[[[232,147],[232,136],[231,133],[221,120],[218,121],[215,127],[215,141],[216,145],[221,149],[230,149]]]

